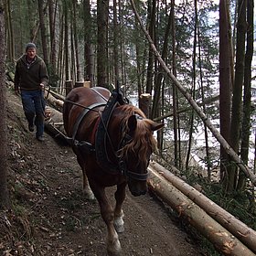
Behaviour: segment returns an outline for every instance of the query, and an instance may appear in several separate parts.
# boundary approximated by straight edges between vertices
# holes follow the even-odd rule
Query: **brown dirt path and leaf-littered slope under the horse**
[[[0,255],[106,255],[106,226],[97,201],[81,193],[71,148],[45,133],[28,132],[19,97],[7,93],[9,190],[12,209],[0,212]],[[112,197],[113,188],[108,189]],[[208,255],[200,239],[151,192],[123,205],[123,256]]]

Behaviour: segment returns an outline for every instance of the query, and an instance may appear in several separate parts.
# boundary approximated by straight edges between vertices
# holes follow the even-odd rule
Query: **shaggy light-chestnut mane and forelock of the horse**
[[[123,112],[125,112],[125,117],[123,118],[123,125],[126,127],[124,133],[128,132],[128,119],[131,115],[136,114],[142,118],[138,118],[137,127],[133,134],[133,140],[131,143],[126,144],[120,151],[119,154],[124,158],[127,158],[129,152],[133,152],[138,155],[140,161],[147,164],[148,156],[157,150],[157,142],[153,136],[151,130],[151,124],[154,123],[152,120],[147,119],[139,108],[127,104],[123,105]]]

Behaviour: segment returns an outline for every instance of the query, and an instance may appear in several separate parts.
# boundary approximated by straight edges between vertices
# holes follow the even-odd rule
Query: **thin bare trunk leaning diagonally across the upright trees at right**
[[[184,97],[187,99],[187,101],[190,103],[190,105],[195,109],[197,112],[197,115],[202,119],[204,123],[208,126],[208,129],[211,131],[211,133],[215,136],[215,138],[219,141],[219,143],[223,146],[223,148],[227,151],[229,156],[235,161],[237,165],[240,166],[240,169],[245,173],[245,175],[250,178],[251,183],[256,186],[256,176],[253,174],[251,169],[244,165],[244,163],[241,162],[239,155],[236,154],[236,152],[230,147],[230,145],[227,143],[227,141],[222,137],[222,135],[219,133],[219,131],[214,127],[214,125],[210,122],[207,115],[201,111],[199,106],[197,105],[197,102],[194,101],[191,97],[191,95],[187,92],[187,90],[179,83],[179,81],[176,79],[174,74],[171,72],[170,69],[167,68],[165,61],[161,58],[159,52],[155,48],[155,44],[149,34],[147,33],[146,29],[144,28],[142,21],[140,19],[140,16],[138,15],[135,5],[133,3],[133,0],[131,0],[131,5],[133,7],[133,12],[138,19],[140,26],[142,27],[145,36],[147,37],[148,41],[150,42],[151,48],[153,48],[155,52],[155,56],[158,59],[159,63],[162,65],[163,69],[165,70],[167,76],[169,79],[173,80],[175,86],[177,89],[184,95]]]

